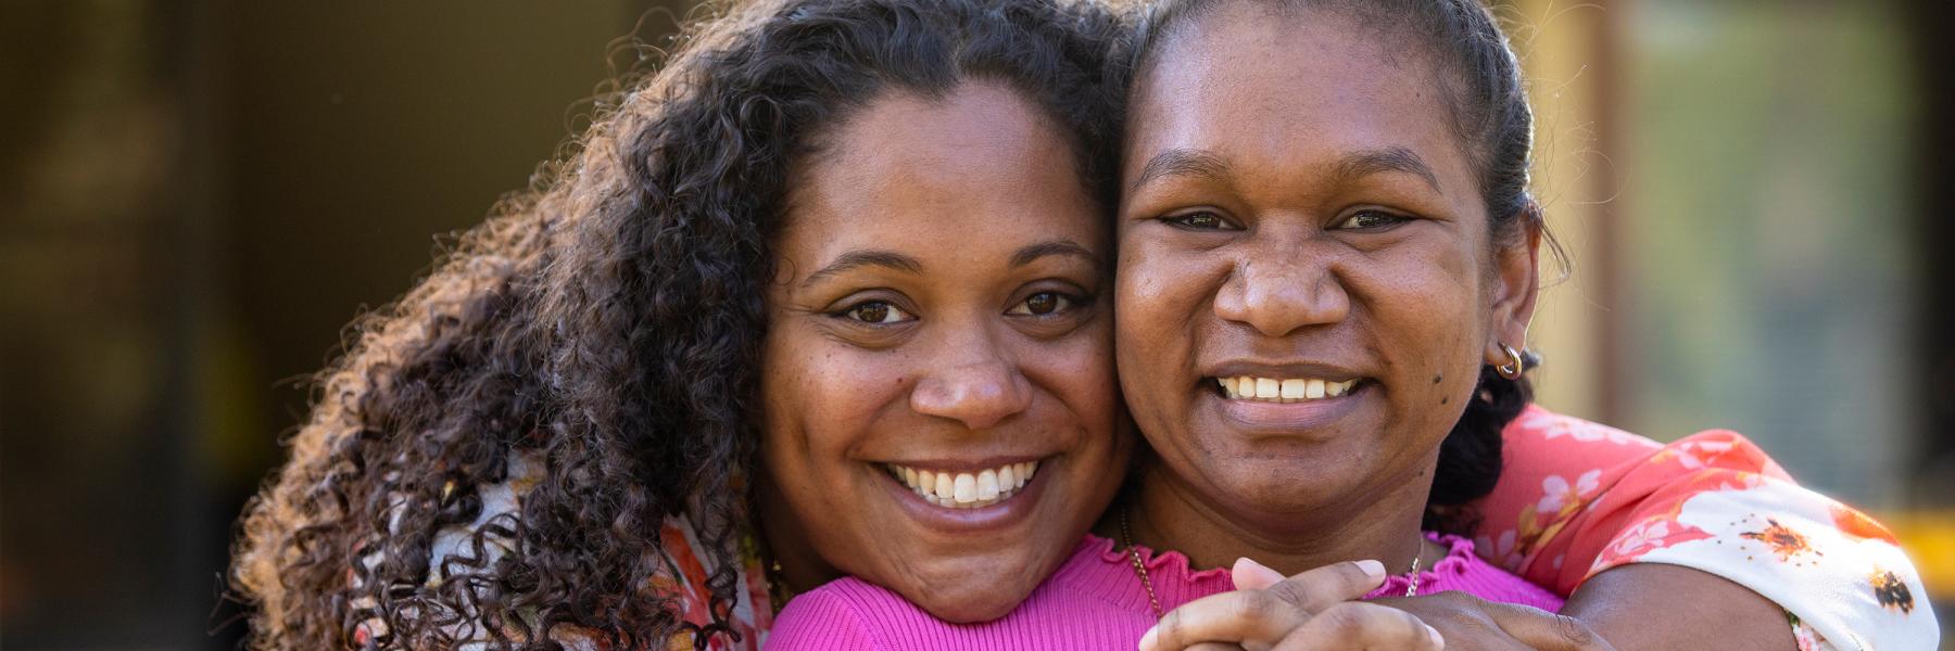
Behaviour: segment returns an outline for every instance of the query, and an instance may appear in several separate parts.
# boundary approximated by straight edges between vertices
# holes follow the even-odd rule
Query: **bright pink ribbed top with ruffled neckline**
[[[1560,610],[1562,600],[1472,553],[1456,536],[1427,538],[1451,551],[1419,573],[1419,594],[1462,590],[1486,600]],[[1142,547],[1148,579],[1163,610],[1234,590],[1228,569],[1189,569],[1179,551]],[[1390,577],[1367,598],[1404,594],[1410,579]],[[1148,590],[1134,565],[1107,538],[1087,536],[1073,555],[1011,614],[985,624],[948,624],[901,594],[847,577],[796,596],[774,620],[768,649],[1134,649],[1153,628]]]

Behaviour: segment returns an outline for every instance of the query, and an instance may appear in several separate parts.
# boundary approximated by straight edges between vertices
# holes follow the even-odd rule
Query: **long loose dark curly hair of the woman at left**
[[[1110,205],[1124,27],[1050,0],[805,0],[692,23],[536,186],[497,207],[319,375],[291,459],[246,508],[252,645],[553,649],[737,635],[764,285],[792,168],[890,92],[1015,88]],[[520,508],[485,493],[542,463]],[[716,571],[686,622],[661,524]],[[438,557],[444,532],[459,551]],[[669,590],[669,588],[663,588]]]

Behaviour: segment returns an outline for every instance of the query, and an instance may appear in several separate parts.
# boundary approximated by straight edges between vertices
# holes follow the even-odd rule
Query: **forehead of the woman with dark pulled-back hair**
[[[1415,37],[1324,10],[1222,2],[1181,23],[1134,88],[1128,180],[1153,151],[1204,149],[1236,168],[1300,172],[1351,151],[1406,149],[1445,194],[1472,190],[1441,76]]]

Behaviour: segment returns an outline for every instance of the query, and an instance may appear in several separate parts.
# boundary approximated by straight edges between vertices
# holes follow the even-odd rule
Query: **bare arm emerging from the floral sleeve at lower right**
[[[1793,649],[1779,604],[1722,577],[1632,563],[1589,577],[1562,606],[1597,635],[1630,649]]]

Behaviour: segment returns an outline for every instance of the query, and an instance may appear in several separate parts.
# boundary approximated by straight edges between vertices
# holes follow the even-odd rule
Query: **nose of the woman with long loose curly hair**
[[[968,360],[917,381],[909,407],[921,414],[952,418],[972,430],[999,424],[1032,405],[1032,387],[1017,364],[983,350],[981,360]]]

